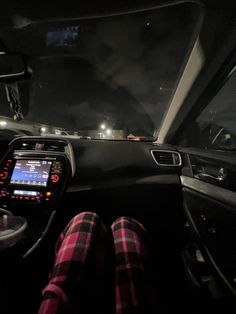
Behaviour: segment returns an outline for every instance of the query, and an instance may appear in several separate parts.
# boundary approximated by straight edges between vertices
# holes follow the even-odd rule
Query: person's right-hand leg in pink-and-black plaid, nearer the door
[[[146,230],[129,217],[117,219],[111,228],[116,255],[116,314],[151,313],[153,291]]]

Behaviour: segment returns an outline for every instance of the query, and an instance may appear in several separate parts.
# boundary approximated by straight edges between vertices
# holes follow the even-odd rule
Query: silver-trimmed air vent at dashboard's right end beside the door
[[[159,166],[181,166],[181,156],[177,152],[152,150],[151,154]]]

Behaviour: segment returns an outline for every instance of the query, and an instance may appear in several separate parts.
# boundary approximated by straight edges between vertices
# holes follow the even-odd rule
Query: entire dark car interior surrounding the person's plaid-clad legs
[[[236,3],[0,6],[1,313],[83,211],[148,230],[157,313],[236,313]]]

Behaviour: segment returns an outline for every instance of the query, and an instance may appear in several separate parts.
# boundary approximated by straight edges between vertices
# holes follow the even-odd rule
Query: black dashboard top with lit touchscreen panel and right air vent
[[[139,145],[141,144],[141,145]],[[73,193],[149,182],[179,184],[181,156],[152,143],[25,137],[1,161],[0,204],[56,207]]]

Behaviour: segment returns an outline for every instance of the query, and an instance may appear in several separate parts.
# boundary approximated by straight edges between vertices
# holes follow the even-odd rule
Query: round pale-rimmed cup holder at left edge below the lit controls
[[[17,244],[24,236],[27,221],[0,208],[0,252]]]

